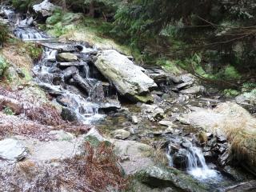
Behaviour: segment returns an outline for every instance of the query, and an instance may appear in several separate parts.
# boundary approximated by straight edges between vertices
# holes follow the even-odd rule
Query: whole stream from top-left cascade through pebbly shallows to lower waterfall
[[[154,98],[159,101],[158,105],[152,111],[148,110],[147,104],[131,104],[118,94],[112,82],[107,81],[94,66],[94,58],[99,51],[97,47],[80,42],[58,42],[36,27],[27,25],[30,18],[17,18],[13,10],[5,12],[17,38],[36,42],[43,47],[42,58],[34,65],[34,82],[50,94],[53,103],[62,106],[62,118],[94,125],[102,134],[110,137],[114,130],[122,129],[130,132],[130,140],[150,145],[164,141],[162,148],[166,150],[169,165],[177,166],[175,159],[177,162],[177,158],[180,158],[180,162],[184,162],[177,168],[212,186],[213,191],[224,191],[226,186],[236,183],[223,175],[218,166],[214,166],[211,160],[205,158],[202,149],[194,145],[194,134],[197,134],[198,130],[181,120],[166,130],[164,123],[158,123],[158,118],[163,118],[162,114],[159,116],[152,112],[162,105],[165,114],[169,113],[174,117],[175,114],[189,110],[187,103],[190,106],[212,107],[208,105],[210,100],[174,94],[174,100],[180,99],[180,102],[165,102],[162,99],[163,94],[171,91],[171,85],[162,83],[163,88],[159,86]],[[143,109],[146,110],[143,112]],[[134,118],[138,118],[138,121]],[[172,142],[174,140],[176,143]],[[178,146],[176,149],[170,146],[170,143],[182,143],[183,148],[181,150]],[[178,156],[180,151],[183,151],[183,154]]]

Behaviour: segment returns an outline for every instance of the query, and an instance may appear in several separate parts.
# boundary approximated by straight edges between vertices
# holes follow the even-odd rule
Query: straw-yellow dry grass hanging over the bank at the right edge
[[[236,104],[231,103],[228,110],[225,110],[226,107],[228,106],[224,103],[215,110],[226,115],[218,128],[226,133],[234,158],[256,166],[256,119]]]

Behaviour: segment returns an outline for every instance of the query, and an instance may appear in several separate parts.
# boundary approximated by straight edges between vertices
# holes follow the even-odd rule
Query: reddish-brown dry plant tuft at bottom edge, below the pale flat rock
[[[66,173],[62,174],[62,181],[71,184],[71,188],[81,191],[109,191],[106,189],[123,190],[126,179],[123,178],[118,158],[114,155],[113,146],[102,142],[96,149],[85,143],[86,156],[66,159],[63,163]],[[75,174],[74,174],[75,173]],[[113,190],[110,190],[113,191]]]

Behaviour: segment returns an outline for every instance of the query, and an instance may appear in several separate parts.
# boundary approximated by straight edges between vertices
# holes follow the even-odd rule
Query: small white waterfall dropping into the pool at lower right
[[[192,146],[187,150],[187,172],[198,179],[218,178],[217,170],[211,170],[206,165],[206,159],[202,154],[202,150],[198,147]]]

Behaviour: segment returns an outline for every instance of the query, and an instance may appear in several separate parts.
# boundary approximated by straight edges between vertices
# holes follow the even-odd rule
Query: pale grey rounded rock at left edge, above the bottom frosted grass
[[[20,161],[27,156],[27,149],[16,139],[6,138],[0,141],[0,159]]]

